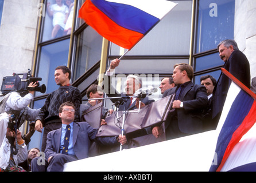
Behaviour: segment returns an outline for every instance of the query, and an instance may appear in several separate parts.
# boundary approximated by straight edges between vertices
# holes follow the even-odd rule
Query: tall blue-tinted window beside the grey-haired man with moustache
[[[224,39],[234,39],[235,0],[198,0],[193,67],[195,83],[200,76],[212,74],[216,80],[224,62],[216,47]]]

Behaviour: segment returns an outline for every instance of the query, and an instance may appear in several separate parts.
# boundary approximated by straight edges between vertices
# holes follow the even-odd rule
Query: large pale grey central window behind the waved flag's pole
[[[121,59],[115,68],[115,74],[123,78],[115,78],[115,87],[120,92],[125,87],[128,74],[138,74],[142,78],[142,87],[153,86],[158,92],[152,97],[162,97],[159,86],[162,77],[172,75],[176,63],[189,62],[191,37],[192,1],[173,1],[179,3],[139,41]],[[112,59],[119,58],[126,50],[110,43],[108,66]],[[107,66],[107,68],[108,68]],[[114,86],[114,84],[113,84]]]

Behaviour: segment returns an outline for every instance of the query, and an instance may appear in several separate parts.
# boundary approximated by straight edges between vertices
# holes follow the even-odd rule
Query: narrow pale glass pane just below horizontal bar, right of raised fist
[[[173,71],[176,63],[188,63],[188,59],[121,59],[115,68],[116,74],[157,73],[165,74]]]

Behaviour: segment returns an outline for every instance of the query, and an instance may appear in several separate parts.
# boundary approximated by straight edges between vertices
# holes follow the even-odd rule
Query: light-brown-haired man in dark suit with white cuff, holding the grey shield
[[[172,105],[175,110],[165,122],[166,140],[203,132],[201,110],[207,108],[208,98],[205,87],[193,84],[192,78],[193,68],[187,63],[174,65],[173,81],[177,85],[176,90],[174,87],[165,91],[166,96],[175,93]],[[155,126],[152,133],[158,137],[159,126]]]

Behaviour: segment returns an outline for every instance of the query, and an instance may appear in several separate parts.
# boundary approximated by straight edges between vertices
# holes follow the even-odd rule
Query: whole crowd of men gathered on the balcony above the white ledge
[[[224,69],[250,88],[250,64],[245,54],[239,51],[236,42],[230,39],[220,42],[218,50],[220,58],[224,61]],[[119,149],[120,145],[132,148],[134,147],[132,144],[143,145],[143,142],[149,138],[157,140],[163,132],[165,139],[171,140],[213,130],[218,125],[231,80],[223,73],[220,74],[218,81],[211,75],[203,75],[200,77],[201,85],[196,85],[192,82],[193,67],[187,63],[179,63],[174,65],[172,77],[162,78],[159,86],[162,98],[174,96],[172,102],[174,110],[168,114],[165,121],[142,129],[138,132],[139,140],[126,138],[121,134],[97,137],[98,129],[92,128],[88,122],[81,121],[84,121],[84,111],[102,102],[100,100],[104,95],[102,91],[111,98],[113,103],[119,102],[115,97],[127,98],[126,102],[119,102],[119,110],[144,108],[154,102],[149,96],[131,97],[142,87],[142,79],[136,75],[127,77],[125,92],[110,92],[115,90],[111,85],[110,77],[120,62],[119,59],[114,59],[110,63],[106,71],[109,77],[108,83],[104,83],[103,87],[91,85],[87,89],[87,98],[91,100],[86,104],[82,104],[79,90],[70,84],[71,71],[66,66],[56,67],[55,81],[60,87],[48,94],[45,104],[40,109],[33,110],[27,107],[33,101],[34,91],[28,91],[29,93],[25,96],[20,96],[17,92],[6,95],[4,100],[1,100],[0,108],[0,169],[2,171],[11,169],[61,171],[66,162],[90,157],[94,143],[101,149],[101,153],[113,152]],[[36,83],[30,83],[30,87],[36,86]],[[104,86],[108,91],[104,90]],[[13,120],[10,114],[20,112],[24,108],[29,112],[27,120],[34,123],[30,125],[30,134],[21,137],[19,130],[9,126],[10,121]],[[105,121],[107,113],[112,114],[114,111],[103,108],[99,126],[108,125]],[[161,130],[162,124],[164,124],[164,130]],[[35,130],[43,133],[41,150],[33,148],[28,151],[26,145]],[[13,149],[18,151],[13,153]],[[45,156],[39,156],[39,152],[44,153]]]

